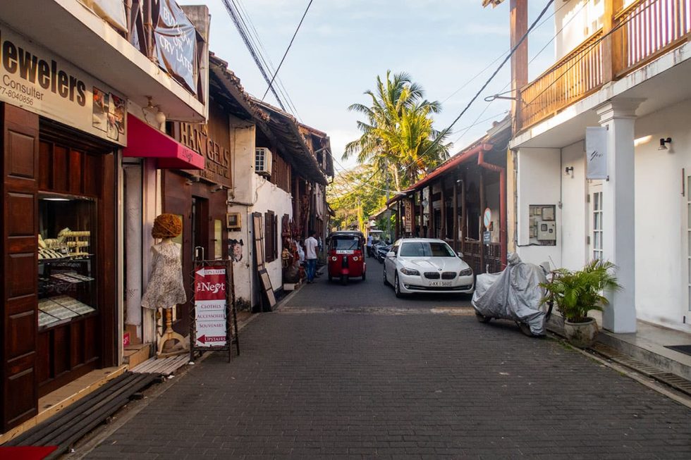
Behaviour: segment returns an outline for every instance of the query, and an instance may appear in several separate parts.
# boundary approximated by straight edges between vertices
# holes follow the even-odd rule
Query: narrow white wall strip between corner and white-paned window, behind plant
[[[564,175],[565,168],[573,173]],[[572,177],[573,176],[573,177]],[[579,141],[561,149],[561,264],[578,270],[587,262],[587,182],[585,179],[585,142]]]

